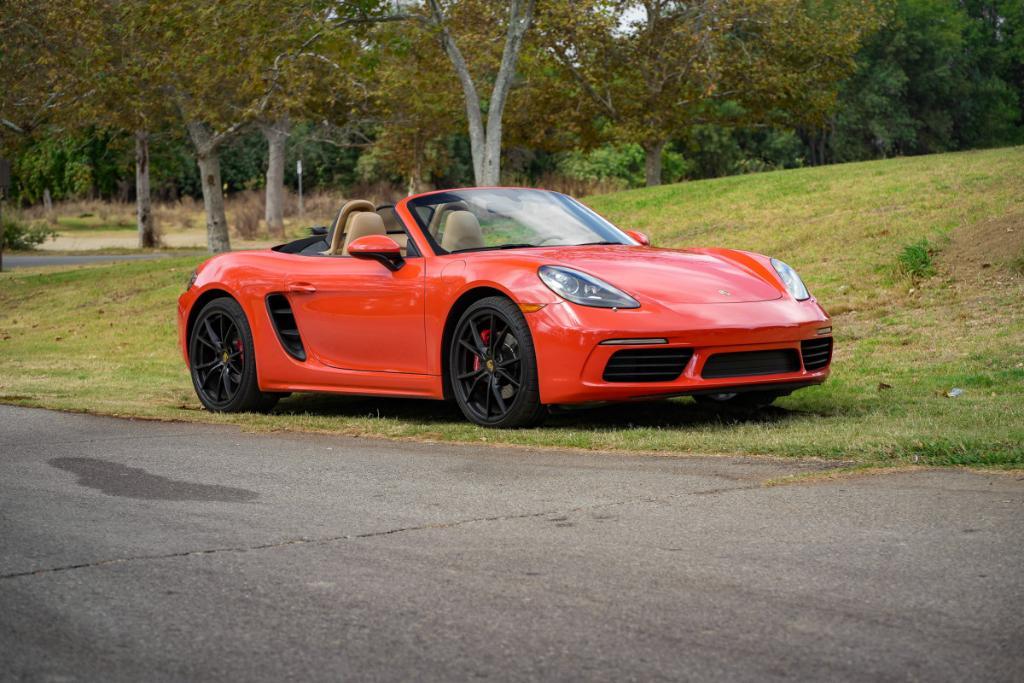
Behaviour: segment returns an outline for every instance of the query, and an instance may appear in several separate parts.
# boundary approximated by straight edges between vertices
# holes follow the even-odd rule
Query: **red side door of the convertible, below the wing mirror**
[[[422,257],[396,271],[347,256],[300,257],[286,288],[306,348],[334,368],[426,374],[424,272]]]

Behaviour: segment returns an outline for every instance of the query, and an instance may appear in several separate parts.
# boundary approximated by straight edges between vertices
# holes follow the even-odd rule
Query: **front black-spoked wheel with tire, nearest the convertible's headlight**
[[[529,326],[508,299],[481,299],[462,314],[449,372],[459,408],[471,422],[512,428],[544,419]]]

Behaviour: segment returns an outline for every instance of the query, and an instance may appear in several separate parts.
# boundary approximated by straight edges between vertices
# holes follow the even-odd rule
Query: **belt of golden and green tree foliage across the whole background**
[[[505,3],[442,0],[481,93]],[[472,182],[466,108],[426,5],[353,0],[0,3],[0,154],[12,199],[202,191],[204,123],[227,191]],[[401,20],[383,20],[387,18]],[[505,179],[635,186],[1024,142],[1024,0],[545,0],[505,113]],[[638,159],[638,147],[644,158]],[[658,169],[657,166],[662,168]]]

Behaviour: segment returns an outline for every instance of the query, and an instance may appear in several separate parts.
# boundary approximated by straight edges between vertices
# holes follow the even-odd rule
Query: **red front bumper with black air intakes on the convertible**
[[[801,357],[801,341],[821,339],[830,328],[828,315],[813,299],[778,299],[752,303],[687,304],[671,309],[588,308],[568,302],[549,304],[528,313],[538,356],[538,379],[544,403],[630,400],[715,391],[792,391],[820,384],[828,366],[808,371],[741,377],[701,377],[708,359],[718,353],[793,349]],[[656,345],[608,345],[616,339],[664,339]],[[687,348],[693,354],[682,374],[671,381],[609,382],[603,378],[611,355],[622,349]]]

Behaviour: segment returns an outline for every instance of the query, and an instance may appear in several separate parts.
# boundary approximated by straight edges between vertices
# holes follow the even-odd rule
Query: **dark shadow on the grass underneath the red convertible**
[[[455,401],[414,398],[294,394],[282,400],[278,415],[314,415],[336,418],[400,420],[417,425],[466,424]],[[685,428],[705,425],[784,423],[788,420],[825,415],[788,410],[777,405],[756,412],[733,413],[698,405],[688,398],[552,409],[544,426],[552,429]]]

